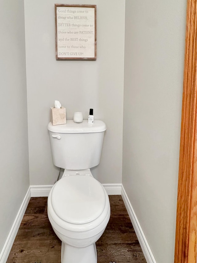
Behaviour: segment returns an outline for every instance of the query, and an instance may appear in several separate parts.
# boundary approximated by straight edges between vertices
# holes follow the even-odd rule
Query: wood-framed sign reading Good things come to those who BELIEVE
[[[57,60],[96,60],[96,5],[55,4]]]

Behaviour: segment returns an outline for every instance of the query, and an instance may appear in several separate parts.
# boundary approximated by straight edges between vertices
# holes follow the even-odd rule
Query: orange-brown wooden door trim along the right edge
[[[175,263],[196,263],[197,245],[197,0],[187,0]]]

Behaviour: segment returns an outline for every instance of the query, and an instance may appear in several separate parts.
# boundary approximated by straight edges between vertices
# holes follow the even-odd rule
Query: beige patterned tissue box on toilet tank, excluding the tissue
[[[50,107],[50,121],[53,125],[66,124],[66,108]]]

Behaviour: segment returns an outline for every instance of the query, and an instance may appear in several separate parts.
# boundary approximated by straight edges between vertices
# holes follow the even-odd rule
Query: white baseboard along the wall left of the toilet
[[[31,197],[31,192],[30,192],[30,187],[28,188],[27,192],[26,192],[26,195],[22,201],[22,204],[18,210],[18,214],[14,220],[14,223],[12,225],[12,228],[10,230],[10,233],[6,239],[6,242],[2,248],[2,251],[0,253],[0,263],[6,263],[7,261],[7,258],[9,256],[9,253],[10,253],[10,250],[12,248],[12,245],[14,243],[14,239],[16,237],[16,234],[18,232],[18,228],[21,224],[21,221],[22,221],[22,218],[25,214],[25,211],[26,211],[26,208],[27,208],[27,205],[29,203],[29,200],[30,200],[30,197]]]

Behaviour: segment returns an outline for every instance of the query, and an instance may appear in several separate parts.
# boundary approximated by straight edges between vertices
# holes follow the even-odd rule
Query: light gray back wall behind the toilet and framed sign
[[[67,119],[81,111],[107,125],[101,162],[92,173],[101,183],[121,183],[125,5],[122,0],[63,1],[97,5],[97,60],[56,61],[54,1],[25,0],[30,184],[53,184],[47,124],[54,100]]]

